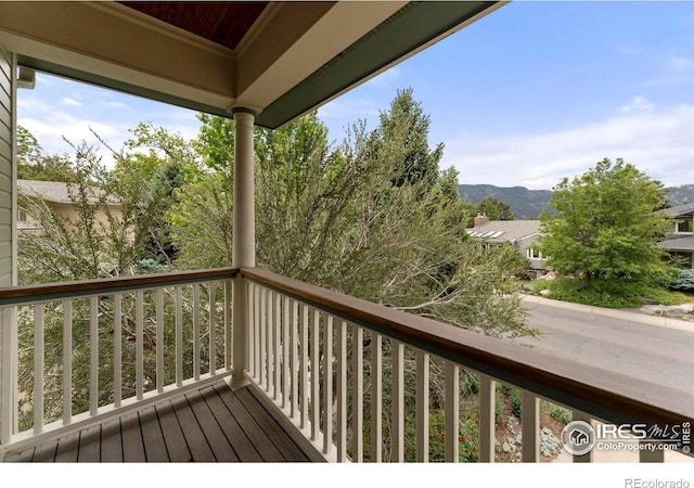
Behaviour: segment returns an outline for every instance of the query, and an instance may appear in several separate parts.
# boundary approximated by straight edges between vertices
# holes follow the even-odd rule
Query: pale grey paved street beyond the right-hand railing
[[[694,323],[537,297],[524,306],[529,325],[545,335],[518,343],[676,389],[694,388]]]

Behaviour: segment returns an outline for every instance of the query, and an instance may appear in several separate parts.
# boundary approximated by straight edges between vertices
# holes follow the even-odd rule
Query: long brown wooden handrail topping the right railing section
[[[607,422],[665,426],[694,419],[692,391],[581,364],[265,270],[240,272],[311,307]]]

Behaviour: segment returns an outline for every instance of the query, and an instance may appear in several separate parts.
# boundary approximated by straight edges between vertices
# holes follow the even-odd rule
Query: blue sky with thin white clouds
[[[694,2],[515,1],[324,105],[339,141],[412,88],[460,183],[550,190],[603,157],[666,185],[694,183]],[[18,123],[49,152],[62,137],[114,146],[139,121],[194,138],[195,113],[39,76]]]

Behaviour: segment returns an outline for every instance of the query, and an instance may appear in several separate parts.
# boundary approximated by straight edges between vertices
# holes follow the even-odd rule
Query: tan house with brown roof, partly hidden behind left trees
[[[39,180],[17,180],[17,190],[29,198],[42,200],[53,211],[66,217],[68,220],[77,218],[77,210],[69,197],[67,183],[60,181]],[[115,198],[108,198],[108,210],[112,216],[121,219],[123,209],[120,203]],[[108,219],[103,209],[98,209],[95,219],[98,222],[106,224]],[[17,229],[20,231],[40,231],[40,222],[31,218],[23,208],[18,209]]]

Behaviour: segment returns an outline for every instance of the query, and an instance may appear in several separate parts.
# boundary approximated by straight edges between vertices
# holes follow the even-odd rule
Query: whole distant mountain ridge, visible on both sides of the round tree
[[[694,184],[670,187],[668,201],[671,207],[694,203]],[[493,196],[511,207],[518,220],[537,219],[548,205],[550,190],[528,190],[525,187],[494,187],[493,184],[459,184],[458,193],[462,198],[476,204],[487,196]]]

